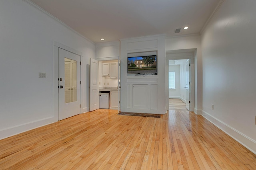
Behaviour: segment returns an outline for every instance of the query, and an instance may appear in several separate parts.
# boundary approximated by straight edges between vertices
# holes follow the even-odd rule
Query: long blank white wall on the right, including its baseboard
[[[255,8],[255,0],[224,0],[202,33],[203,115],[254,153]]]

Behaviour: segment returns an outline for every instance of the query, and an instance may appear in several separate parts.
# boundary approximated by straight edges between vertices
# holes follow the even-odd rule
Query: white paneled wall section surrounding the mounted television
[[[120,51],[120,78],[121,78],[121,111],[128,112],[138,112],[138,113],[166,113],[165,105],[165,45],[164,45],[165,35],[153,35],[146,37],[134,37],[130,39],[121,40],[121,51]],[[158,57],[158,74],[157,75],[146,75],[146,76],[135,76],[128,75],[127,73],[127,57],[143,56],[143,55],[154,55],[157,54]],[[144,84],[150,87],[152,84],[157,85],[157,92],[152,91],[154,99],[152,99],[151,90],[147,92],[147,98],[144,96],[140,98],[136,92],[134,92],[132,86],[133,84]],[[129,94],[130,93],[130,94]],[[128,108],[128,98],[131,95],[130,104],[132,107]],[[136,96],[134,96],[136,95]],[[145,94],[144,94],[145,95]],[[138,98],[137,98],[138,97]],[[157,98],[157,99],[156,99]],[[142,99],[138,100],[138,99]],[[138,100],[138,105],[136,101]],[[157,100],[157,106],[152,105],[149,107],[149,102]],[[140,102],[147,102],[140,103]],[[134,107],[135,104],[135,107]],[[156,104],[156,102],[154,103]],[[140,106],[140,107],[139,107]]]

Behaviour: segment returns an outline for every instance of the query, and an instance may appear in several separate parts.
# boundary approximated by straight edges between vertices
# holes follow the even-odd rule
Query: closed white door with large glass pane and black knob
[[[81,56],[58,49],[59,120],[80,114]]]

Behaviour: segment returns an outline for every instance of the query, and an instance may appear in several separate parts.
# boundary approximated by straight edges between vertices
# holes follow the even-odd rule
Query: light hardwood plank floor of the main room
[[[255,170],[256,155],[193,112],[99,109],[1,140],[0,169]]]

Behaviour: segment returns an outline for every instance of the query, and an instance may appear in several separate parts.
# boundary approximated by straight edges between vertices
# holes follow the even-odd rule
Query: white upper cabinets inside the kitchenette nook
[[[102,63],[102,76],[109,76],[110,78],[118,78],[118,62]]]

